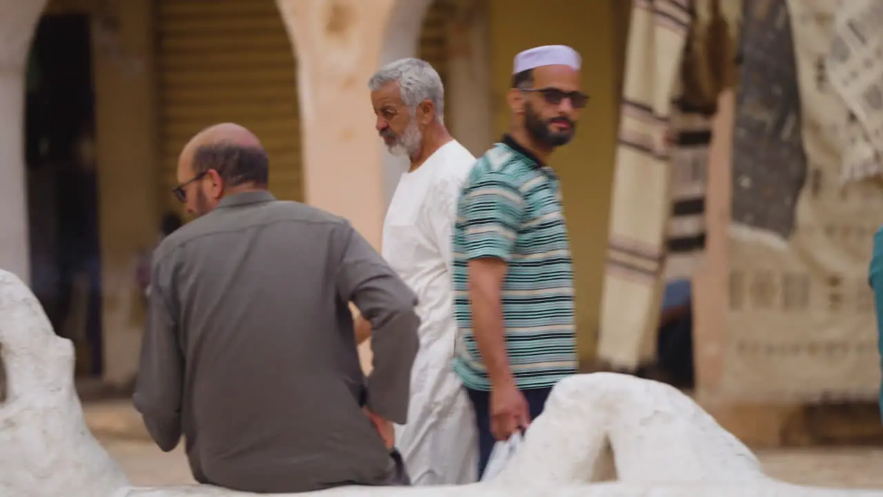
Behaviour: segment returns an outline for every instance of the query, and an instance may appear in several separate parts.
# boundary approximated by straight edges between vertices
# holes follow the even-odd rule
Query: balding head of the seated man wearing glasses
[[[252,132],[232,123],[210,126],[193,136],[177,164],[176,195],[187,210],[202,215],[227,194],[266,188],[267,152]]]

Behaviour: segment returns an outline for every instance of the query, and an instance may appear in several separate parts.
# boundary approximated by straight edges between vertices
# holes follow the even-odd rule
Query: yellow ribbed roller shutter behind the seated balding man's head
[[[177,184],[177,156],[200,129],[235,122],[270,157],[270,189],[300,200],[296,64],[274,0],[158,0],[162,185]]]

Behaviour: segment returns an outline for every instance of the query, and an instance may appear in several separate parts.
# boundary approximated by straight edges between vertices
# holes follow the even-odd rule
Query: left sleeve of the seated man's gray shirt
[[[156,445],[168,452],[181,439],[184,354],[171,305],[168,261],[154,264],[147,304],[147,329],[141,340],[138,378],[132,403]]]

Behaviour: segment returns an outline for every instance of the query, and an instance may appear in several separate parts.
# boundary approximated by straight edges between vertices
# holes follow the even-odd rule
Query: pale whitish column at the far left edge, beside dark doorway
[[[0,268],[31,279],[25,172],[27,53],[45,0],[0,0]]]

